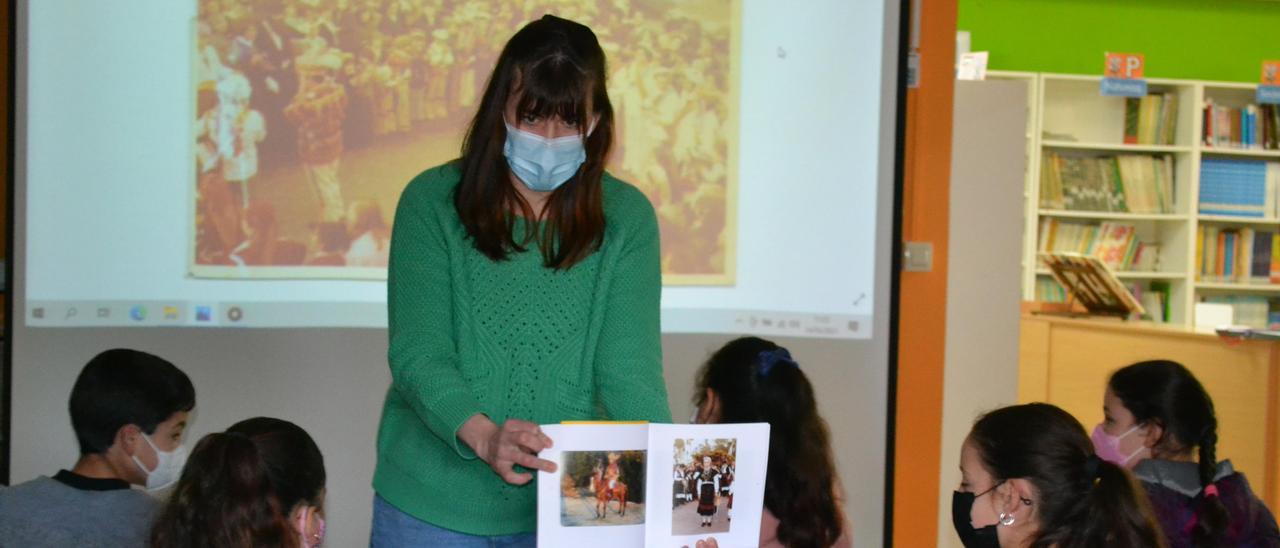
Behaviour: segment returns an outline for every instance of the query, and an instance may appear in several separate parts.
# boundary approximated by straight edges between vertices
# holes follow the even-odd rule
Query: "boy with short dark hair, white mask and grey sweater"
[[[159,503],[131,489],[175,481],[196,389],[173,364],[134,350],[95,356],[72,387],[81,456],[70,470],[0,490],[0,545],[146,545]]]

